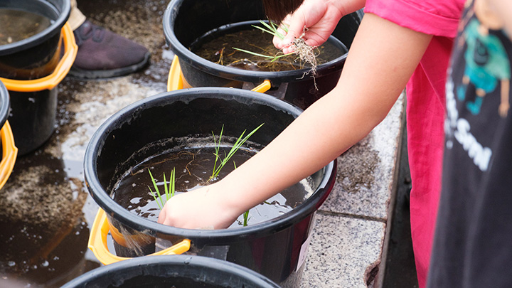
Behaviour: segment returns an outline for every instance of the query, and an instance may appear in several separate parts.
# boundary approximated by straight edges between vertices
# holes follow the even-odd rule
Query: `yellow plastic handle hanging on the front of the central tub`
[[[105,265],[130,259],[129,257],[119,257],[117,255],[113,255],[112,253],[110,253],[107,246],[107,234],[109,230],[110,226],[107,220],[107,214],[104,210],[100,208],[96,214],[94,223],[92,223],[91,233],[89,236],[89,243],[87,245],[89,249],[97,257],[97,260],[100,260],[100,262],[102,262]],[[177,243],[176,245],[173,245],[159,252],[155,252],[151,255],[181,254],[183,252],[187,252],[188,250],[190,250],[190,245],[191,240],[185,239]]]

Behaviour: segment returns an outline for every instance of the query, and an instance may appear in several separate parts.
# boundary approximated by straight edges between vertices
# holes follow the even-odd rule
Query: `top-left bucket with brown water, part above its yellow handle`
[[[0,77],[32,80],[52,74],[70,0],[0,0]]]

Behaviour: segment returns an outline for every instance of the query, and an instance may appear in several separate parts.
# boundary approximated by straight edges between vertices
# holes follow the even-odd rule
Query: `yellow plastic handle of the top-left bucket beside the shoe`
[[[64,39],[64,50],[65,53],[63,58],[60,59],[55,71],[50,75],[38,78],[34,80],[12,80],[7,78],[0,78],[1,82],[4,82],[7,90],[17,92],[34,92],[41,90],[51,90],[57,86],[66,75],[68,75],[71,66],[75,62],[76,54],[78,52],[78,46],[75,43],[75,36],[69,23],[65,23],[62,28],[62,35]]]

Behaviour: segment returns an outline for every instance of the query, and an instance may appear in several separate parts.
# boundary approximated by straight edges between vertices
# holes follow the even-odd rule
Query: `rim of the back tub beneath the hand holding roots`
[[[292,82],[292,81],[300,81],[300,80],[310,80],[313,78],[312,75],[309,75],[309,69],[299,69],[299,70],[287,70],[287,71],[252,71],[252,70],[241,70],[238,68],[231,68],[224,65],[216,64],[210,62],[204,58],[199,57],[195,53],[191,52],[187,47],[181,44],[181,41],[178,41],[176,34],[174,33],[174,21],[176,20],[176,16],[178,15],[178,11],[180,9],[181,3],[183,0],[171,0],[167,5],[166,10],[164,11],[163,25],[164,25],[164,36],[166,38],[166,43],[168,43],[169,48],[173,50],[173,52],[178,55],[180,61],[186,63],[188,65],[193,66],[194,68],[198,68],[200,70],[206,70],[208,73],[215,73],[221,78],[230,79],[230,80],[238,80],[244,82],[262,82],[265,79],[272,79],[272,82],[277,82],[274,79],[279,79],[279,84],[284,82]],[[247,21],[252,22],[252,21]],[[238,22],[244,23],[244,22]],[[329,38],[334,38],[334,36],[329,36]],[[336,39],[336,38],[334,38]],[[336,41],[338,41],[336,39]],[[177,43],[176,45],[171,45],[171,43]],[[341,41],[340,41],[341,43]],[[345,46],[344,43],[341,43]],[[345,46],[346,47],[346,46]],[[348,49],[347,49],[348,50]],[[318,65],[316,68],[315,78],[322,77],[324,75],[329,75],[331,73],[335,73],[340,70],[346,60],[348,52],[339,56],[338,58],[331,60],[327,63]],[[307,76],[307,77],[306,77]],[[256,80],[256,81],[255,81]]]

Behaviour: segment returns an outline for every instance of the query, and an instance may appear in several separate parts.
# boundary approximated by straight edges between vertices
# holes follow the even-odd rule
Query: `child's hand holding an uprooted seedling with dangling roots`
[[[293,46],[290,46],[290,44],[295,38],[302,36],[309,46],[314,47],[327,41],[327,38],[331,36],[334,28],[338,25],[338,21],[344,15],[341,7],[338,6],[339,2],[305,0],[293,14],[284,18],[283,23],[288,26],[288,33],[284,40],[275,36],[273,39],[274,46],[282,49],[284,54],[288,54],[293,52]]]

